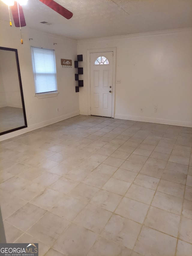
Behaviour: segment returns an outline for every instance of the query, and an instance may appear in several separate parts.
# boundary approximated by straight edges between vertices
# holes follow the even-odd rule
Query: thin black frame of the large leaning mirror
[[[12,132],[12,131],[17,131],[17,130],[26,128],[27,127],[27,119],[26,119],[26,113],[25,113],[25,104],[24,104],[24,98],[23,98],[23,89],[22,89],[22,83],[21,83],[21,73],[20,73],[20,68],[19,68],[19,58],[18,58],[17,49],[7,48],[7,47],[0,47],[0,50],[15,52],[17,72],[18,72],[18,78],[19,78],[19,87],[20,87],[21,101],[22,101],[22,108],[23,108],[23,118],[24,118],[24,122],[25,122],[25,125],[23,125],[23,126],[13,128],[13,129],[10,129],[8,131],[0,132],[0,135],[3,135],[3,134],[6,134],[6,133],[9,133],[9,132]]]

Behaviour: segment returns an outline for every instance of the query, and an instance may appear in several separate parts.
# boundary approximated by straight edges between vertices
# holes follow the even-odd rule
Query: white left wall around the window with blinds
[[[1,135],[0,140],[23,132],[58,122],[79,114],[79,95],[75,92],[74,60],[77,55],[75,40],[44,34],[38,30],[22,28],[23,45],[20,43],[19,28],[0,23],[0,46],[18,50],[22,89],[26,108],[28,128]],[[33,38],[33,40],[29,40]],[[56,43],[55,45],[53,45]],[[35,97],[30,46],[55,49],[58,96],[50,98]],[[61,59],[72,59],[72,68],[62,68]],[[58,108],[58,112],[57,112]]]

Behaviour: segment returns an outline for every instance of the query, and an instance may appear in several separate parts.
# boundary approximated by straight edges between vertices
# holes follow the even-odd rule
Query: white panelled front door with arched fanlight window
[[[91,115],[111,117],[113,52],[90,53]]]

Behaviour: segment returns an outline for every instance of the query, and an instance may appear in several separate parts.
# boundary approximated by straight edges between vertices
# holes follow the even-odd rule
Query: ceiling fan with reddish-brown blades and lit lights
[[[25,17],[24,17],[23,9],[21,5],[26,4],[28,0],[17,0],[17,1],[1,0],[1,1],[4,2],[6,5],[10,6],[15,26],[16,27],[26,26]],[[68,20],[73,16],[72,12],[70,12],[69,10],[67,10],[66,8],[59,5],[53,0],[39,0],[39,1],[47,5],[49,8],[56,11],[58,14],[60,14],[61,16],[63,16]],[[10,26],[12,26],[11,20],[10,20]]]

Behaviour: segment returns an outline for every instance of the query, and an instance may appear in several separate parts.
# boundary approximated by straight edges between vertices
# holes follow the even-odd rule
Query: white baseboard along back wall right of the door
[[[127,116],[127,115],[118,115],[118,114],[115,114],[115,118],[124,119],[124,120],[132,120],[132,121],[140,121],[140,122],[148,122],[148,123],[156,123],[156,124],[164,124],[164,125],[192,127],[192,122],[183,122],[183,121],[168,120],[168,119],[161,119],[161,118],[150,118],[150,117],[142,117],[142,116]]]

